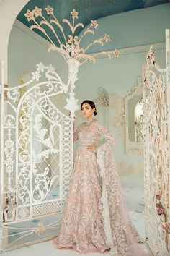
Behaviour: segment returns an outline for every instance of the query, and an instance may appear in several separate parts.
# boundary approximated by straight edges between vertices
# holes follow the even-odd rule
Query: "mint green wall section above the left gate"
[[[25,31],[19,30],[19,26],[18,23],[13,26],[9,38],[8,84],[11,86],[16,85],[22,74],[34,72],[37,68],[36,64],[41,61],[46,66],[52,64],[53,67],[60,70],[63,81],[67,81],[67,64],[63,61],[62,56],[54,52],[49,54],[48,46],[50,44],[48,42],[46,43],[44,39],[40,39],[39,42],[36,40],[36,34],[35,38],[31,38],[27,35],[27,31],[30,33],[30,29],[24,25],[21,26],[24,27],[25,33]]]

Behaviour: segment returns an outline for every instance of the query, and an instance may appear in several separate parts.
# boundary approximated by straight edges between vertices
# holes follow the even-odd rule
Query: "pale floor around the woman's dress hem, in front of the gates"
[[[143,179],[139,176],[124,176],[121,178],[122,191],[127,201],[130,218],[135,227],[140,233],[141,239],[145,238],[144,231],[144,202],[143,202]],[[146,244],[141,244],[141,247],[148,251]],[[151,252],[150,252],[151,253]],[[76,256],[80,255],[78,252],[71,250],[55,249],[51,241],[34,244],[28,247],[22,247],[10,252],[4,252],[4,256]],[[100,253],[91,253],[90,256],[102,256]],[[105,254],[104,254],[105,255]]]

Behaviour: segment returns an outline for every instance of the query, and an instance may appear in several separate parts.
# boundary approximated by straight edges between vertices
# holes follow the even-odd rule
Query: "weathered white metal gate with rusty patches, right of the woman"
[[[166,69],[152,49],[143,69],[146,237],[154,255],[170,250],[170,40],[166,30]]]

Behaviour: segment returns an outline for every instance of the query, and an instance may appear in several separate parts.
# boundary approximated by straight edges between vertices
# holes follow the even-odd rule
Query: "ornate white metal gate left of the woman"
[[[68,85],[42,63],[23,85],[2,81],[1,252],[58,234],[72,170],[73,119],[52,98],[67,93]]]

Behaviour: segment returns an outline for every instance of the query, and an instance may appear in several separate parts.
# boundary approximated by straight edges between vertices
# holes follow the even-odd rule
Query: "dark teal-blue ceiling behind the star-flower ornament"
[[[32,22],[32,20],[28,22],[27,17],[24,16],[27,9],[32,11],[32,9],[37,6],[44,10],[47,5],[50,5],[50,7],[54,9],[55,17],[58,18],[61,24],[63,18],[72,21],[70,12],[76,9],[76,11],[79,12],[79,22],[82,22],[84,27],[86,27],[91,20],[166,3],[169,3],[169,0],[30,0],[17,16],[17,20],[24,23],[27,27],[30,27],[35,23]],[[50,20],[50,16],[48,17],[46,12],[43,12],[43,15],[47,20]],[[64,24],[63,28],[66,35],[71,33],[68,25]],[[77,35],[81,30],[82,27],[77,30]],[[35,30],[35,32],[47,39],[40,31]],[[59,33],[59,37],[60,36],[62,35]]]

